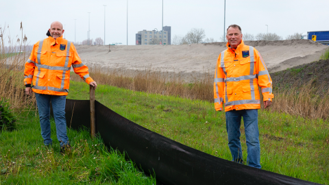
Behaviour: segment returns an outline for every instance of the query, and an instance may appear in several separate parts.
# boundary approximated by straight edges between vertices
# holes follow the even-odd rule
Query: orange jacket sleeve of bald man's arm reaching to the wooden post
[[[72,49],[71,51],[73,53],[72,66],[73,66],[74,73],[76,73],[82,79],[84,79],[84,81],[87,84],[89,84],[90,82],[93,82],[94,80],[89,76],[88,66],[86,66],[85,64],[82,63],[73,43],[71,43],[71,49]]]

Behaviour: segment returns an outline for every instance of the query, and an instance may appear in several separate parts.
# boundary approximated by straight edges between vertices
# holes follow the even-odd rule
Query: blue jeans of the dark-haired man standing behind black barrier
[[[247,164],[260,169],[260,145],[258,132],[258,110],[230,110],[226,112],[226,130],[228,131],[228,147],[233,161],[242,159],[240,143],[241,116],[245,123],[245,139],[247,142]]]

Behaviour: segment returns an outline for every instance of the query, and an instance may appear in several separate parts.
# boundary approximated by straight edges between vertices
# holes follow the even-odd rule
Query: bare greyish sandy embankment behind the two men
[[[270,72],[319,60],[325,45],[311,40],[247,41],[263,56]],[[77,52],[87,66],[140,70],[148,67],[176,73],[212,73],[219,53],[226,43],[193,45],[77,45]]]

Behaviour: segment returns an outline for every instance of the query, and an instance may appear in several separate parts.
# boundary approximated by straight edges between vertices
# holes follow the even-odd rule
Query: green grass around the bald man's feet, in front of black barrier
[[[156,184],[123,154],[90,139],[86,130],[68,129],[73,147],[60,154],[51,119],[53,148],[42,142],[38,114],[23,112],[17,130],[0,132],[0,184]]]

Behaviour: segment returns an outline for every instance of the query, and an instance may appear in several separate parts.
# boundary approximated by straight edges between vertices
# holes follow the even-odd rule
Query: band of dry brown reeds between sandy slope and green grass
[[[180,74],[164,73],[155,69],[132,72],[126,69],[93,67],[90,69],[90,76],[99,84],[213,102],[213,75],[211,73],[192,77],[191,83],[184,82]],[[71,75],[71,79],[82,80],[77,75]],[[274,90],[275,98],[271,108],[267,110],[310,119],[328,119],[329,90],[311,87],[311,83],[312,81],[301,88]],[[262,95],[260,99],[263,99]],[[263,103],[261,106],[263,108]]]

